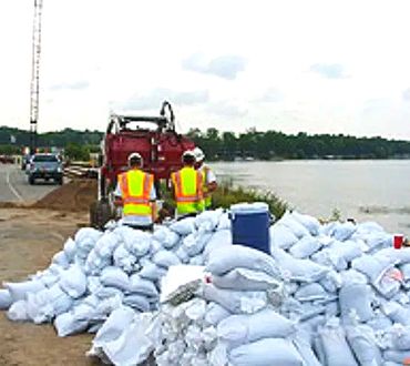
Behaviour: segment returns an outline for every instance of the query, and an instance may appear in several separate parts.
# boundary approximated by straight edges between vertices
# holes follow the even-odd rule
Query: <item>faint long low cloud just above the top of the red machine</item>
[[[164,100],[178,105],[195,105],[205,103],[208,99],[209,93],[207,90],[173,91],[160,88],[152,90],[147,94],[136,93],[119,106],[125,110],[153,110],[160,109]]]

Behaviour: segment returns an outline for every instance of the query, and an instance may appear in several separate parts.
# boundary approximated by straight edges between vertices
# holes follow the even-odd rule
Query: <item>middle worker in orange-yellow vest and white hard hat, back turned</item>
[[[194,216],[204,211],[203,177],[202,173],[195,170],[193,151],[185,151],[182,162],[183,169],[171,174],[178,218]]]

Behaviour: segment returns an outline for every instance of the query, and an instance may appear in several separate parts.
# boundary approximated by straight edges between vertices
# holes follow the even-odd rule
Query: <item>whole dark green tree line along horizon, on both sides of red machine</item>
[[[39,133],[38,146],[64,149],[72,159],[83,159],[100,150],[104,133],[64,129]],[[216,129],[192,129],[187,135],[201,146],[208,160],[235,159],[389,159],[410,157],[410,141],[355,138],[344,134],[285,134],[250,129],[243,133]],[[0,128],[0,154],[21,153],[30,145],[30,132]]]

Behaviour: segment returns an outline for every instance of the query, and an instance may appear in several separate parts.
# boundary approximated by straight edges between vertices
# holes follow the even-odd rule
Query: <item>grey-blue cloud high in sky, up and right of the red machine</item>
[[[235,80],[238,72],[244,71],[246,60],[239,55],[222,55],[206,60],[202,54],[194,53],[182,61],[185,70],[213,74],[227,80]]]

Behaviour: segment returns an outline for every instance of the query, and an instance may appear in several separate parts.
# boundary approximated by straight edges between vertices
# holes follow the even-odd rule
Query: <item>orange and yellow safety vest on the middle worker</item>
[[[178,214],[196,213],[204,210],[201,172],[194,167],[185,166],[172,174],[172,181]]]

